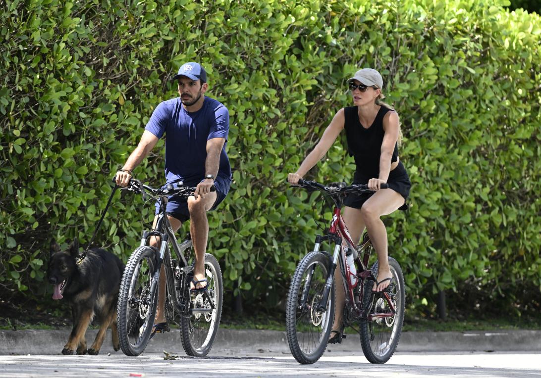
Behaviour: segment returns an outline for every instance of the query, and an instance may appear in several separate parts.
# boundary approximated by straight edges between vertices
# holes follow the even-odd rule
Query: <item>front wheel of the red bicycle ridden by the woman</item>
[[[299,263],[287,295],[286,335],[300,363],[314,363],[325,352],[334,320],[334,281],[324,309],[320,305],[327,282],[329,258],[308,253]]]

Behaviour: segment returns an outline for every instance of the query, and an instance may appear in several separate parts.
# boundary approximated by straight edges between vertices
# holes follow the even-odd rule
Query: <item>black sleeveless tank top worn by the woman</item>
[[[347,106],[344,108],[347,152],[349,156],[353,156],[355,165],[357,165],[354,180],[379,177],[381,143],[383,143],[383,136],[385,134],[383,130],[383,117],[388,111],[392,110],[381,106],[378,114],[375,116],[374,123],[368,129],[365,129],[359,121],[357,106]],[[398,144],[395,144],[391,163],[397,160]]]

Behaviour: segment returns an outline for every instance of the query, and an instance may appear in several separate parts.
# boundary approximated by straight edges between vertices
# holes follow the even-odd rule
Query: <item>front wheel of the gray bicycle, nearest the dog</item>
[[[138,356],[147,347],[154,325],[157,289],[151,298],[156,249],[143,246],[131,254],[120,284],[117,304],[118,340],[127,356]]]

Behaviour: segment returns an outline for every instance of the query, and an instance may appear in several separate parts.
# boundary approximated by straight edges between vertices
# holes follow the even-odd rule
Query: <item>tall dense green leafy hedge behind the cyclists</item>
[[[245,303],[275,306],[312,248],[319,203],[285,178],[351,103],[345,78],[360,67],[381,71],[401,116],[411,210],[385,221],[412,306],[443,289],[505,293],[519,310],[523,287],[539,298],[539,16],[484,0],[239,3],[0,5],[5,292],[48,290],[50,238],[89,241],[111,172],[176,96],[173,72],[196,60],[231,116],[232,191],[209,217],[209,250]],[[348,181],[353,169],[337,142],[309,176]],[[135,174],[162,183],[162,141]],[[142,206],[119,195],[98,244],[126,261],[150,219]]]

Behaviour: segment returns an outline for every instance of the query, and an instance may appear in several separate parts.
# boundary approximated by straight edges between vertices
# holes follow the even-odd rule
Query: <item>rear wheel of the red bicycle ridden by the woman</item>
[[[368,361],[372,363],[385,363],[397,349],[402,325],[404,323],[405,309],[405,286],[404,275],[397,260],[389,259],[389,266],[393,274],[388,291],[396,313],[388,318],[364,321],[360,327],[362,352]],[[372,274],[378,275],[378,262],[372,265]],[[391,312],[391,307],[382,293],[372,293],[372,285],[365,285],[363,295],[363,308],[368,309],[368,315],[374,313]]]

